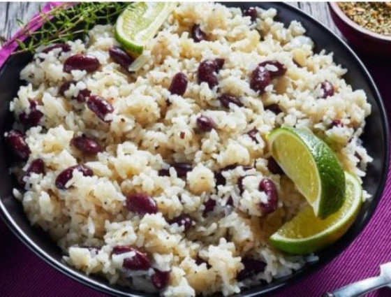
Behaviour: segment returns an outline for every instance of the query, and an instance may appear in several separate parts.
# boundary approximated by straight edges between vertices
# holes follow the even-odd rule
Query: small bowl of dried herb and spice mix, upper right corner
[[[391,57],[391,2],[330,2],[334,24],[354,48]]]

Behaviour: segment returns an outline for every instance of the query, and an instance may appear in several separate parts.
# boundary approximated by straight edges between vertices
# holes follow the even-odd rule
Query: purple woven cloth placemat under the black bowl
[[[45,11],[60,2],[48,3]],[[40,20],[31,26],[39,27]],[[0,50],[0,66],[6,61],[15,43],[6,43]],[[369,69],[383,96],[383,101],[391,112],[390,75],[391,60],[376,60],[374,57],[360,56]],[[315,297],[324,291],[342,287],[365,277],[377,275],[381,263],[391,261],[391,175],[381,202],[367,228],[353,244],[323,270],[296,282],[274,294],[275,297]],[[105,297],[107,295],[84,287],[40,260],[25,247],[0,221],[0,296],[1,297]],[[381,289],[367,296],[390,297],[391,289]]]

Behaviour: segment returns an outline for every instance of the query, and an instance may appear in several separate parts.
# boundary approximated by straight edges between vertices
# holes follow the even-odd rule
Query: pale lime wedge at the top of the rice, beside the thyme
[[[115,38],[126,50],[140,55],[176,6],[176,2],[129,4],[117,19]]]

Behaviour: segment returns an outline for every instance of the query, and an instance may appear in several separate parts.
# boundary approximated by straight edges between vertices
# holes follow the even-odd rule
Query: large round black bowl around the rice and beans
[[[381,96],[367,69],[360,59],[357,58],[355,53],[348,48],[348,45],[341,41],[341,39],[333,34],[332,31],[323,26],[323,24],[320,24],[320,22],[314,20],[301,10],[284,3],[225,3],[225,5],[242,8],[256,5],[263,8],[274,7],[278,10],[277,20],[285,24],[288,24],[291,20],[302,22],[307,29],[307,35],[311,36],[313,41],[315,41],[315,50],[319,51],[320,49],[325,49],[327,52],[334,52],[334,59],[337,64],[341,64],[349,70],[344,78],[354,89],[364,89],[364,92],[367,93],[368,101],[372,106],[372,113],[367,117],[367,125],[365,126],[364,135],[362,137],[364,140],[364,147],[367,148],[371,157],[374,157],[374,161],[369,165],[367,175],[364,178],[364,189],[372,195],[371,200],[366,201],[362,205],[360,214],[348,233],[332,246],[327,247],[318,253],[319,261],[304,266],[304,268],[298,270],[293,275],[275,280],[271,284],[244,290],[241,294],[237,295],[237,297],[264,296],[276,289],[287,286],[309,273],[314,273],[320,267],[330,262],[348,247],[362,229],[364,229],[364,226],[367,225],[381,198],[387,176],[388,156],[390,152],[388,121],[381,101]],[[61,261],[61,252],[55,242],[40,229],[30,226],[26,215],[24,215],[22,206],[13,198],[13,181],[8,173],[8,161],[4,152],[3,133],[10,127],[12,121],[12,117],[10,117],[8,112],[9,101],[13,99],[17,93],[18,87],[22,84],[19,79],[19,73],[29,59],[31,59],[30,55],[10,57],[0,70],[1,217],[3,217],[3,220],[15,235],[34,253],[40,256],[41,259],[50,263],[54,268],[60,270],[69,277],[78,280],[78,282],[82,282],[82,284],[86,284],[89,287],[115,296],[151,296],[150,294],[140,293],[124,287],[110,285],[101,278],[84,275],[84,273],[80,273],[78,270],[66,266]]]

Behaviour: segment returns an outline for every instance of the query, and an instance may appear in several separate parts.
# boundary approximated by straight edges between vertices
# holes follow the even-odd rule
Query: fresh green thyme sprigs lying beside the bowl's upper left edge
[[[115,22],[119,13],[128,6],[122,2],[80,2],[64,3],[52,8],[47,13],[42,12],[23,23],[18,20],[21,31],[13,38],[19,48],[13,55],[21,52],[35,52],[41,45],[61,43],[81,38],[96,24],[110,24]],[[43,22],[43,26],[36,31],[31,30],[31,24]],[[27,36],[22,41],[22,36]]]

